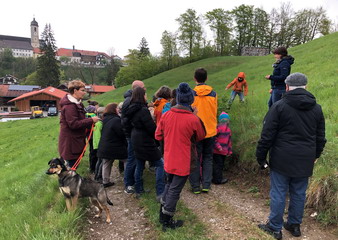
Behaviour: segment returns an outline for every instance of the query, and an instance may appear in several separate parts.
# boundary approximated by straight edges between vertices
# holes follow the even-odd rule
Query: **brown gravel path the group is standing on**
[[[116,176],[113,179],[115,185],[108,188],[109,198],[114,203],[114,206],[109,207],[112,224],[105,223],[104,213],[101,218],[97,219],[93,218],[94,209],[88,209],[88,224],[84,234],[86,239],[156,239],[155,231],[144,215],[145,210],[140,207],[134,195],[124,193],[123,178],[115,167],[112,176]],[[259,192],[249,193],[250,186],[242,180],[230,180],[225,185],[212,185],[208,194],[200,195],[191,193],[190,184],[187,182],[181,194],[181,201],[207,226],[209,239],[273,239],[257,227],[257,224],[264,223],[269,215],[268,199]],[[304,222],[301,225],[301,237],[292,237],[286,230],[283,230],[283,239],[338,239],[327,229],[321,228],[319,223],[310,217],[311,213],[309,209],[305,211]]]

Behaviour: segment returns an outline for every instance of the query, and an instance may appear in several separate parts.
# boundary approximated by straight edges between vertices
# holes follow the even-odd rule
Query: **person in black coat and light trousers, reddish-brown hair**
[[[110,103],[103,113],[103,125],[97,156],[102,159],[103,186],[114,185],[110,181],[112,164],[115,159],[126,159],[127,140],[121,126],[121,118],[117,114],[117,104]]]

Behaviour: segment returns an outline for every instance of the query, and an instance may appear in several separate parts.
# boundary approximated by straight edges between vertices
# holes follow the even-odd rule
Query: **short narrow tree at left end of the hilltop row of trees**
[[[172,69],[174,66],[174,56],[178,55],[176,35],[174,33],[164,31],[161,38],[162,58],[166,62],[167,69]]]

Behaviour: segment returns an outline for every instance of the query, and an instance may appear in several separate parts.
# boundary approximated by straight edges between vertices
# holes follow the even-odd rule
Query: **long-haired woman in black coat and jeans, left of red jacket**
[[[147,107],[144,88],[137,87],[133,90],[125,117],[129,122],[125,126],[130,128],[127,131],[131,132],[131,143],[136,158],[136,197],[139,198],[144,192],[142,176],[145,161],[149,161],[156,167],[156,198],[160,199],[164,191],[163,159],[155,141],[156,125]]]

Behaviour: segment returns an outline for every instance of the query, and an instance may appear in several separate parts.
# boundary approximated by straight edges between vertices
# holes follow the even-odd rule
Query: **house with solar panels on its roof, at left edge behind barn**
[[[10,102],[12,99],[39,89],[40,86],[34,85],[0,85],[0,111],[14,111],[14,102]]]

